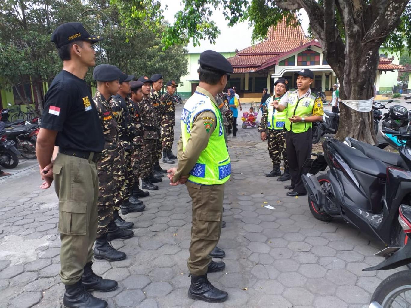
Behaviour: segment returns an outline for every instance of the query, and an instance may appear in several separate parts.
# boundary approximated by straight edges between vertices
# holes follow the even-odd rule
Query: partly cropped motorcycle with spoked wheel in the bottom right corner
[[[402,204],[399,207],[399,225],[405,234],[406,244],[402,247],[388,247],[376,253],[386,257],[380,264],[363,269],[376,271],[396,269],[411,264],[411,207]],[[376,288],[371,297],[369,308],[391,308],[411,306],[411,270],[399,271],[385,278]]]

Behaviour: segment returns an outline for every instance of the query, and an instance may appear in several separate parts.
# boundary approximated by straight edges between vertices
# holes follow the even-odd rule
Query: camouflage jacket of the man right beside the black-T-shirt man
[[[123,151],[120,139],[118,138],[118,124],[115,122],[109,102],[99,90],[97,90],[96,95],[93,97],[93,101],[96,105],[105,139],[101,162],[115,161]]]

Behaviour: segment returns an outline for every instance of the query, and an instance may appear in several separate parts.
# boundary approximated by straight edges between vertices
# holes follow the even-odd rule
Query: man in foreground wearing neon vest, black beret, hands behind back
[[[192,198],[188,296],[211,303],[223,302],[228,294],[214,287],[207,273],[222,271],[224,262],[214,262],[210,253],[221,234],[224,183],[231,175],[230,156],[222,114],[215,101],[233,72],[221,54],[207,50],[200,55],[200,83],[187,100],[180,118],[178,168],[168,170],[171,185],[186,184]]]

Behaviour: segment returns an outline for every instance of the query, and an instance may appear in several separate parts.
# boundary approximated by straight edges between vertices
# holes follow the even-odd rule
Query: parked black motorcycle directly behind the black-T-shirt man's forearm
[[[5,129],[7,139],[13,140],[16,143],[21,156],[26,159],[36,159],[36,133],[38,133],[36,124],[28,124],[15,126],[11,129]]]

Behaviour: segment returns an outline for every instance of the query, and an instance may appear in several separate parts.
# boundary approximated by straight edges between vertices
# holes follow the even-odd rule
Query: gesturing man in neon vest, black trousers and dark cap
[[[324,114],[321,98],[311,92],[310,85],[314,80],[312,71],[302,69],[295,76],[297,90],[287,92],[279,103],[271,103],[277,111],[287,110],[284,129],[291,185],[286,185],[285,188],[292,189],[287,193],[291,197],[307,194],[301,179],[301,175],[306,174],[307,170],[302,165],[311,157],[312,122],[321,121]]]

